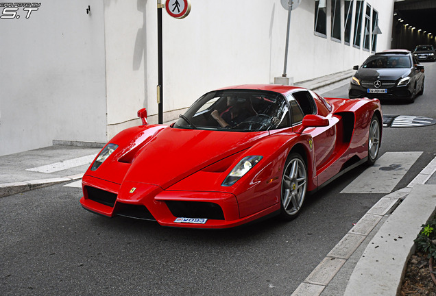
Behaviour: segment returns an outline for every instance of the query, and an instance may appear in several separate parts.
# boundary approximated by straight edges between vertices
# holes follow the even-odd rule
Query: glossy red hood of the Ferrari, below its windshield
[[[252,147],[269,132],[217,132],[168,127],[134,158],[123,182],[153,184],[163,189],[210,164]]]

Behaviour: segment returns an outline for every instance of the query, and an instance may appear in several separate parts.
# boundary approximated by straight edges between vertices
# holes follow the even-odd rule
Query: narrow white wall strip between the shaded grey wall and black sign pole
[[[145,2],[104,1],[108,138],[137,125],[136,111],[147,107]]]

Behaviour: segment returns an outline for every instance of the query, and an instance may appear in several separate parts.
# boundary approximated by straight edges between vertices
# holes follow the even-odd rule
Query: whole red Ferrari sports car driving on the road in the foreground
[[[306,194],[381,144],[378,99],[324,99],[293,86],[242,85],[200,97],[171,125],[114,136],[83,177],[80,204],[107,217],[228,228],[291,220]]]

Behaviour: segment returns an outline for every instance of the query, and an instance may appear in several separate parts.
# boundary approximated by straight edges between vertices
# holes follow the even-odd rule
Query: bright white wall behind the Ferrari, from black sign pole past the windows
[[[291,13],[287,76],[294,82],[351,69],[370,56],[369,51],[344,45],[343,40],[331,40],[330,1],[327,3],[327,38],[313,32],[315,1],[303,0]],[[383,34],[378,36],[377,49],[388,49],[393,0],[368,0],[365,8],[366,3],[379,13]],[[282,75],[287,11],[280,0],[191,0],[191,4],[186,18],[171,18],[165,11],[163,15],[165,112],[190,106],[208,90],[245,83],[269,84]],[[158,113],[155,1],[147,1],[146,18],[146,90],[152,115]]]

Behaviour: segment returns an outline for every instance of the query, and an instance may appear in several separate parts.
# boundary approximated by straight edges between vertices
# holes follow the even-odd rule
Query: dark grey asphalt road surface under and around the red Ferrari
[[[436,118],[436,66],[415,103],[384,114]],[[348,86],[325,97],[346,97]],[[386,128],[381,153],[424,151],[396,189],[435,157],[436,125]],[[383,194],[343,194],[365,167],[309,197],[298,219],[183,230],[82,209],[62,185],[0,199],[0,295],[291,295]]]

